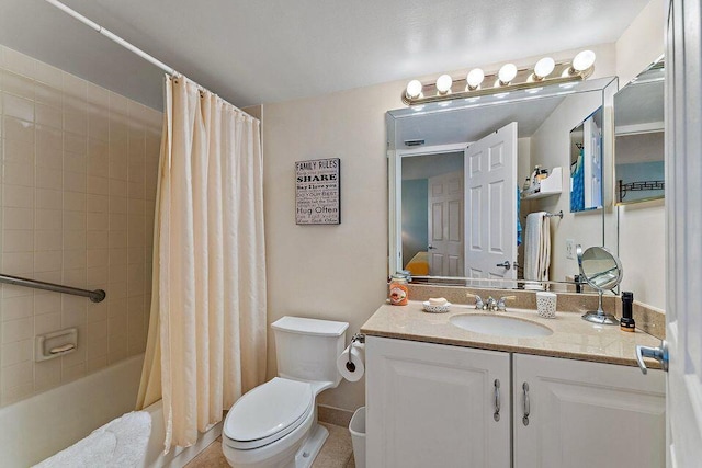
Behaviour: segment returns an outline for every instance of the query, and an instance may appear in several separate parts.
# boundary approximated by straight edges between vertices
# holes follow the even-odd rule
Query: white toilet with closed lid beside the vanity
[[[349,323],[283,317],[271,327],[278,377],[239,398],[224,421],[222,450],[233,467],[309,467],[329,435],[315,400],[341,381],[336,361]]]

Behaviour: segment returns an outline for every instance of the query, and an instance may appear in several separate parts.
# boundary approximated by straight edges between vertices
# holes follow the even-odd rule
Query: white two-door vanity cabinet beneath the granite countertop
[[[366,370],[369,468],[665,466],[661,370],[377,336]]]

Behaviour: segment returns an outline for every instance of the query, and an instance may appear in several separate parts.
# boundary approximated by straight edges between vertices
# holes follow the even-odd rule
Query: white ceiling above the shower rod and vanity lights
[[[65,0],[238,106],[614,42],[648,0]],[[154,107],[161,75],[44,0],[0,43]]]

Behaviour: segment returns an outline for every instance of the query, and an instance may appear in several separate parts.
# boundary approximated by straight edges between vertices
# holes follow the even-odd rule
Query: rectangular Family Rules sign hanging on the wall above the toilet
[[[341,160],[295,161],[295,222],[341,224]]]

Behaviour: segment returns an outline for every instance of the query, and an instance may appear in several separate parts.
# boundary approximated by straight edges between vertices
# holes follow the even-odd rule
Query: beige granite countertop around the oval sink
[[[548,336],[507,338],[463,330],[449,322],[461,313],[500,315],[525,319],[553,330]],[[505,312],[476,310],[473,306],[454,304],[446,313],[428,313],[422,303],[410,300],[407,306],[382,305],[361,327],[361,332],[372,336],[395,338],[451,344],[482,350],[536,354],[598,363],[636,366],[636,345],[658,346],[660,340],[641,330],[623,332],[619,326],[600,326],[580,318],[577,312],[556,313],[555,319],[539,317],[536,310],[508,307]],[[649,368],[660,368],[653,359],[646,359]]]

